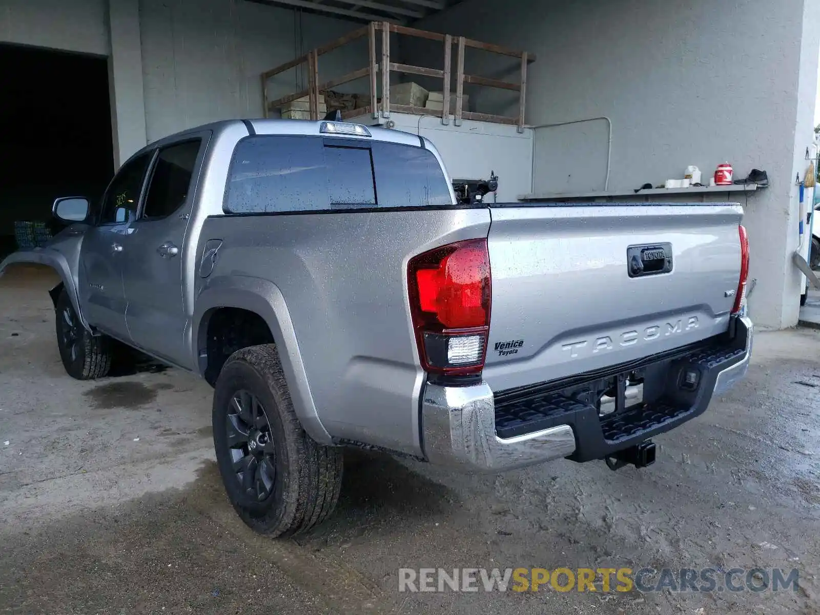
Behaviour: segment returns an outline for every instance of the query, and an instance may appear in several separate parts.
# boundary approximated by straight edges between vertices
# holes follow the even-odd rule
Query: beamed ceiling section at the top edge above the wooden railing
[[[353,21],[407,24],[457,4],[460,0],[251,0],[299,8]]]

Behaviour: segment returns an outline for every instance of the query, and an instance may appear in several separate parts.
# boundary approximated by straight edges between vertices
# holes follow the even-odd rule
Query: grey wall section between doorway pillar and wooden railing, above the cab
[[[140,22],[149,141],[210,121],[261,117],[262,71],[360,27],[307,14],[300,25],[294,11],[244,0],[140,0]],[[367,47],[341,48],[321,57],[320,77],[366,65]],[[307,80],[288,71],[269,95],[297,84]]]

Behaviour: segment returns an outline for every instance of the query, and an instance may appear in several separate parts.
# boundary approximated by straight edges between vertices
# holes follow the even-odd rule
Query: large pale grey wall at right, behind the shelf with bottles
[[[795,172],[802,176],[805,161],[795,157],[812,136],[818,15],[815,0],[472,0],[419,27],[536,53],[528,123],[612,118],[610,189],[657,185],[690,164],[707,179],[725,161],[738,177],[753,167],[768,171],[772,187],[746,207],[750,275],[757,278],[750,312],[760,324],[782,327],[797,321],[799,276],[790,253]],[[404,51],[414,50],[408,44]],[[466,66],[468,73],[517,75],[509,58],[476,51],[468,50]],[[478,111],[514,115],[509,93],[471,93]],[[601,189],[605,128],[540,130],[536,185]]]

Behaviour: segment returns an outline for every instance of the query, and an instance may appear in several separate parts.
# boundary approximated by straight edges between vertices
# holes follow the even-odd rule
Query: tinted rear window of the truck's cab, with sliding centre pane
[[[235,149],[225,212],[313,212],[451,204],[430,150],[364,139],[257,136]]]

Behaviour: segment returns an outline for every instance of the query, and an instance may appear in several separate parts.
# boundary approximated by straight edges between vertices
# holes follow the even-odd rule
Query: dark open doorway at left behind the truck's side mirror
[[[0,255],[57,197],[97,200],[114,172],[104,57],[0,45]],[[55,229],[56,230],[56,229]]]

